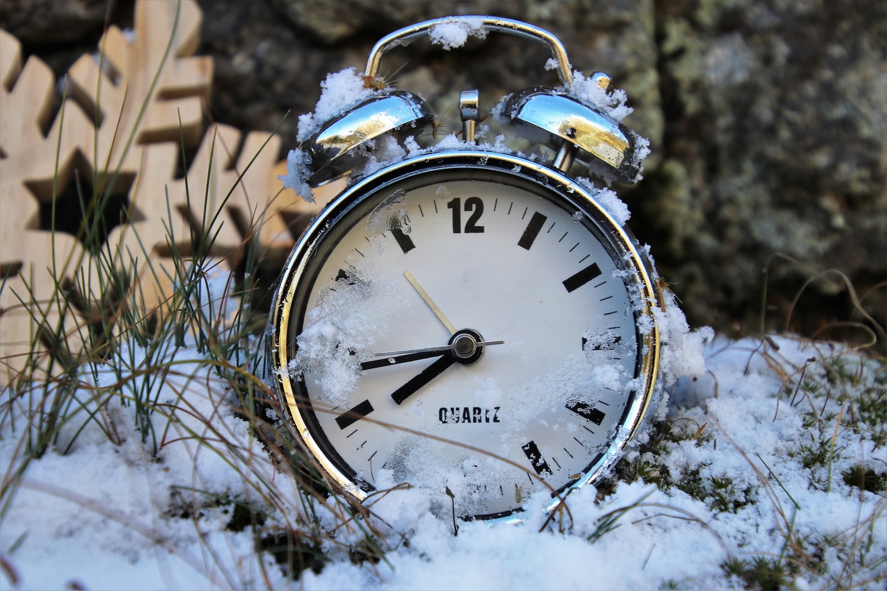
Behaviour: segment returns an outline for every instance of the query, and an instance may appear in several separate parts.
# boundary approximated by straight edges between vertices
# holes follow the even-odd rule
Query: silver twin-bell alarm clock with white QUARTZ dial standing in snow
[[[476,90],[459,97],[462,139],[426,149],[412,136],[434,117],[405,90],[371,89],[316,122],[291,186],[349,186],[289,256],[268,352],[287,420],[344,494],[409,483],[463,518],[513,517],[530,494],[556,503],[607,473],[656,392],[655,270],[605,193],[569,174],[581,155],[631,183],[644,145],[571,92],[554,35],[516,20],[406,27],[376,43],[363,80],[392,47],[447,27],[552,51],[562,86],[514,92],[495,113],[555,155],[476,144]],[[585,82],[605,92],[609,78]]]

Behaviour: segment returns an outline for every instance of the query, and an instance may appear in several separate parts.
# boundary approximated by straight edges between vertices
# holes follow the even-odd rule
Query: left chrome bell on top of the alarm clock
[[[372,150],[372,141],[403,128],[414,134],[433,121],[431,111],[419,96],[405,90],[395,90],[385,95],[365,100],[347,113],[321,126],[302,146],[310,155],[309,184],[331,181],[348,174],[359,165],[357,148]]]

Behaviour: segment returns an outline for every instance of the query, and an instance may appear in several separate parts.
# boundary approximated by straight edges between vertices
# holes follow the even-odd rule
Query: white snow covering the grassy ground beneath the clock
[[[133,408],[114,399],[114,440],[87,427],[63,455],[74,435],[63,430],[27,466],[0,529],[4,588],[718,588],[759,585],[768,572],[798,588],[883,588],[887,576],[883,488],[844,477],[861,464],[883,487],[884,369],[836,346],[715,339],[706,373],[676,386],[672,402],[687,408],[672,403],[670,426],[630,453],[613,484],[585,486],[553,519],[543,494],[519,525],[460,523],[458,536],[418,488],[342,525],[341,502],[304,494],[250,439],[202,357],[180,350],[178,377],[159,391],[177,409],[153,416],[156,459]],[[0,433],[4,482],[22,455],[11,428]],[[234,531],[232,499],[267,518]],[[318,572],[294,580],[256,540],[306,506],[332,535],[310,542],[325,556]],[[388,550],[377,564],[353,552],[370,526]]]

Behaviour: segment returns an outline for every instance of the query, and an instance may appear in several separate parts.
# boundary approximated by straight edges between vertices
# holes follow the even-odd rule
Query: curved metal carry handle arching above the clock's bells
[[[561,76],[561,82],[564,86],[573,82],[573,75],[569,71],[569,60],[567,59],[567,50],[564,49],[561,40],[546,31],[544,28],[534,27],[529,23],[513,19],[500,19],[498,17],[484,16],[466,16],[466,17],[444,17],[443,19],[431,19],[404,27],[396,30],[394,33],[385,35],[378,43],[373,46],[370,51],[370,57],[366,59],[365,75],[371,80],[376,77],[379,70],[379,63],[386,51],[394,49],[398,45],[406,45],[414,39],[429,35],[431,29],[447,23],[457,23],[466,19],[483,19],[483,27],[490,31],[498,33],[507,33],[509,35],[517,35],[525,39],[538,41],[545,45],[552,52],[552,57],[557,61],[557,73]],[[404,43],[407,42],[407,43]]]

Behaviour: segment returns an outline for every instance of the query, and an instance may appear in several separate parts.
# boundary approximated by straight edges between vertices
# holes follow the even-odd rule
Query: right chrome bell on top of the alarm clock
[[[502,113],[530,141],[554,144],[561,138],[554,167],[569,170],[577,149],[581,149],[605,164],[617,180],[634,183],[637,179],[640,171],[634,134],[562,90],[521,90],[507,99]]]

